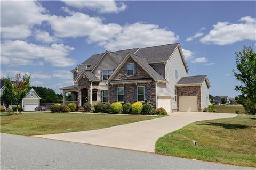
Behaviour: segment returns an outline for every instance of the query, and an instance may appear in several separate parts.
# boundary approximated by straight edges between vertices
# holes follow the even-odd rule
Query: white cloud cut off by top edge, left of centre
[[[119,13],[124,11],[126,5],[123,2],[108,1],[63,1],[67,6],[75,8],[87,8],[99,13]]]

